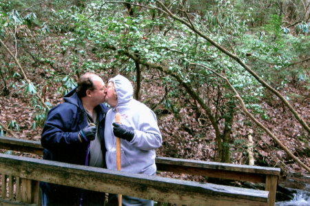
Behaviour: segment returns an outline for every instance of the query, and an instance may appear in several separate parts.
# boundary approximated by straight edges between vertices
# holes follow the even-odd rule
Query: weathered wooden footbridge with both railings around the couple
[[[0,149],[43,154],[38,141],[17,138],[0,138]],[[265,191],[0,154],[0,205],[40,205],[39,181],[177,205],[274,205],[276,200],[279,168],[165,157],[157,157],[156,165],[159,171],[265,183]]]

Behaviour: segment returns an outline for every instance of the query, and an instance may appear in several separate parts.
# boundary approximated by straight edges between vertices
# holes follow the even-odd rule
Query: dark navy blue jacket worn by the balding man
[[[46,160],[85,164],[87,144],[79,141],[79,130],[87,126],[86,113],[83,104],[77,96],[75,89],[64,96],[64,103],[53,107],[49,112],[43,132],[41,144],[44,147],[43,158]],[[100,104],[94,108],[99,118],[99,136],[101,138],[101,150],[105,161],[104,125],[107,106]],[[104,163],[104,167],[105,163]],[[59,185],[41,183],[45,192],[56,192]],[[52,189],[52,191],[50,191]],[[62,190],[61,188],[59,188]],[[57,190],[59,190],[57,189]],[[68,192],[68,188],[66,189]],[[61,191],[59,191],[61,192]],[[73,192],[73,191],[72,191]]]

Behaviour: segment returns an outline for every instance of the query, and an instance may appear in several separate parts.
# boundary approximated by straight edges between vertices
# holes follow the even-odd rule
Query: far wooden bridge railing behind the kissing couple
[[[6,150],[17,150],[19,152],[28,152],[32,154],[42,154],[43,152],[43,148],[39,142],[25,141],[17,138],[0,138],[0,148]],[[274,205],[276,200],[276,187],[280,176],[279,168],[234,165],[208,161],[193,161],[167,157],[157,157],[156,165],[160,171],[195,174],[200,176],[231,179],[235,181],[265,183],[265,190],[267,190],[269,194],[268,205]],[[130,174],[130,176],[132,176],[132,174]],[[167,202],[171,203],[172,201],[169,200]]]

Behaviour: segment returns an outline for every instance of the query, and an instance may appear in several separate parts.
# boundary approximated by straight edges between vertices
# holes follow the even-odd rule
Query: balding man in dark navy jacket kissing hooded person
[[[64,103],[48,112],[41,134],[46,160],[103,167],[104,125],[107,107],[105,83],[96,74],[81,75],[77,87],[64,96]],[[40,183],[43,205],[103,205],[105,194]]]

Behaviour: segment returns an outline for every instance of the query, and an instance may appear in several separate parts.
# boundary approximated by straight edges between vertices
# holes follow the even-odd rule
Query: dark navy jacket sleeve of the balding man
[[[42,146],[53,150],[81,144],[79,131],[74,131],[78,130],[78,126],[74,125],[77,116],[77,107],[72,107],[67,103],[62,103],[50,110],[41,134]]]

